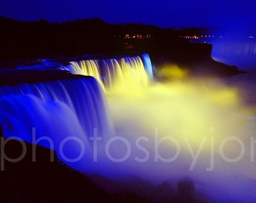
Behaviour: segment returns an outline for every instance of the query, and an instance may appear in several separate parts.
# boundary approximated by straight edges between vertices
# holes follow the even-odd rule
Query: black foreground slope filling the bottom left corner
[[[33,147],[36,149],[34,152]],[[6,158],[1,162],[1,202],[80,202],[88,198],[96,201],[110,199],[110,195],[97,189],[82,174],[59,162],[55,152],[47,148],[1,138],[1,153]],[[53,159],[50,158],[51,153]]]

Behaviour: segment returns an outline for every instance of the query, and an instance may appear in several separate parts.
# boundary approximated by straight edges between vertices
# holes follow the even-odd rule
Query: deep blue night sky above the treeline
[[[99,17],[107,23],[160,27],[256,25],[255,0],[1,0],[0,15],[16,20],[64,22]]]

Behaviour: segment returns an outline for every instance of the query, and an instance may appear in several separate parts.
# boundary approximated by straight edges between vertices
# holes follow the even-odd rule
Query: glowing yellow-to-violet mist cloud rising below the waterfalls
[[[152,183],[189,177],[217,202],[255,200],[256,111],[240,92],[194,78],[112,88],[115,136],[97,143],[87,172]]]

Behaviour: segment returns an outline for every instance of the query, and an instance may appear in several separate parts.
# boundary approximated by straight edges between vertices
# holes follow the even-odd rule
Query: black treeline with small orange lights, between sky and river
[[[108,24],[99,19],[48,23],[0,17],[0,59],[84,53],[164,52],[187,44],[182,36],[207,34],[208,28],[163,29],[140,23]]]

